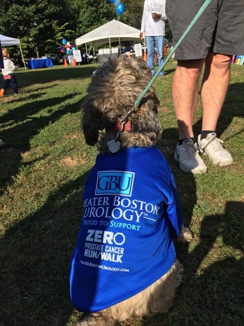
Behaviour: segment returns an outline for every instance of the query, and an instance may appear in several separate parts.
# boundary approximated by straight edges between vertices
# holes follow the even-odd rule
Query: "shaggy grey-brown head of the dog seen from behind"
[[[110,57],[97,71],[88,86],[82,107],[82,129],[88,145],[98,144],[108,151],[107,142],[118,140],[120,147],[148,147],[161,137],[158,120],[159,98],[151,86],[138,107],[128,117],[129,128],[118,133],[118,122],[132,109],[151,79],[146,62],[126,56]],[[99,140],[99,131],[104,130]]]

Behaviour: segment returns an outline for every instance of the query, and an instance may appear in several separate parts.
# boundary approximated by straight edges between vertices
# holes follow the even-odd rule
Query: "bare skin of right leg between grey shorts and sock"
[[[216,130],[216,125],[230,82],[231,56],[209,53],[201,87],[202,130]]]

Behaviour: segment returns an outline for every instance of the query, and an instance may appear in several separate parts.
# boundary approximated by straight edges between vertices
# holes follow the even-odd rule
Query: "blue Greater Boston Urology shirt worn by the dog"
[[[93,312],[126,300],[167,273],[182,216],[173,175],[156,147],[98,155],[83,200],[70,293],[75,308]]]

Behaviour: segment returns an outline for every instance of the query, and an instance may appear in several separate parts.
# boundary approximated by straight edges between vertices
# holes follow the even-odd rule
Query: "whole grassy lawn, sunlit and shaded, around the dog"
[[[97,154],[80,130],[80,106],[98,65],[16,72],[0,99],[0,325],[70,326],[80,316],[70,303],[69,261],[82,215],[84,181]],[[242,326],[244,324],[244,66],[231,82],[218,133],[233,158],[229,167],[188,175],[173,160],[177,142],[171,82],[157,78],[164,128],[159,148],[174,173],[185,224],[194,238],[176,243],[185,267],[172,308],[123,326]],[[133,104],[133,103],[132,103]],[[200,131],[200,101],[194,121]]]

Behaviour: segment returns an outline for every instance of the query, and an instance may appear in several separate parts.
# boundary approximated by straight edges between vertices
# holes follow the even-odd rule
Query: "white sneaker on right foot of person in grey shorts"
[[[217,138],[216,132],[208,133],[207,137],[202,140],[201,135],[198,135],[200,153],[207,154],[213,164],[225,167],[233,163],[233,158],[221,144],[223,144],[223,141]]]

